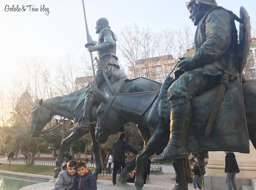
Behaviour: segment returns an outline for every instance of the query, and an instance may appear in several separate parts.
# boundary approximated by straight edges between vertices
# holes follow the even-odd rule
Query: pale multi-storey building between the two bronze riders
[[[128,67],[128,79],[146,77],[149,79],[163,82],[174,69],[177,60],[172,55],[139,59],[136,64]],[[177,68],[174,69],[176,71]],[[170,76],[174,77],[174,71]]]

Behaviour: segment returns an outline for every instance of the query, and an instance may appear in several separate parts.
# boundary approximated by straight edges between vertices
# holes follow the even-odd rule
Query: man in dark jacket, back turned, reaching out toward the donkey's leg
[[[124,169],[125,166],[125,150],[128,150],[134,154],[138,154],[139,152],[135,150],[131,145],[129,145],[126,141],[126,134],[120,133],[119,139],[113,143],[113,185],[116,184],[116,174],[118,171],[118,167],[121,166]]]

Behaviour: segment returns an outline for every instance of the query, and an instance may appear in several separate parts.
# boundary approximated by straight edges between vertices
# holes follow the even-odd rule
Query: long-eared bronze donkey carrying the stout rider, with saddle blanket
[[[238,79],[239,80],[239,79]],[[241,78],[240,78],[241,80]],[[164,82],[165,83],[165,82]],[[230,82],[232,83],[232,82]],[[237,84],[239,84],[237,82]],[[242,82],[241,82],[242,84]],[[147,92],[137,92],[137,93],[128,93],[128,94],[119,94],[118,96],[110,95],[109,91],[106,89],[105,94],[102,91],[99,91],[93,84],[92,89],[94,94],[102,101],[100,103],[99,108],[97,109],[97,126],[95,127],[95,138],[99,143],[105,143],[108,137],[112,133],[116,133],[118,129],[127,124],[128,122],[137,123],[144,129],[149,130],[152,133],[152,136],[147,139],[147,144],[145,145],[144,149],[138,154],[134,159],[132,159],[129,163],[127,163],[126,167],[124,168],[123,172],[120,175],[118,183],[125,184],[126,180],[129,178],[129,172],[132,171],[136,166],[136,177],[135,177],[135,186],[137,189],[141,189],[143,187],[143,166],[146,163],[147,158],[151,155],[155,154],[159,147],[165,145],[169,140],[170,135],[170,127],[169,123],[165,122],[164,119],[159,119],[159,94],[162,94],[161,91],[147,91]],[[164,85],[164,84],[163,84]],[[234,84],[231,84],[234,85]],[[209,138],[204,137],[204,130],[207,126],[207,122],[204,122],[204,125],[196,125],[201,123],[200,119],[204,119],[208,121],[210,117],[211,109],[205,110],[204,107],[210,105],[212,108],[214,99],[211,100],[209,94],[213,94],[216,96],[218,85],[207,91],[206,93],[195,97],[192,100],[192,110],[201,110],[201,114],[204,117],[198,117],[198,114],[192,112],[195,117],[192,116],[192,129],[188,132],[187,138],[198,137],[199,141],[193,143],[196,145],[197,150],[195,150],[189,143],[187,143],[187,148],[189,152],[195,151],[222,151],[227,150],[236,150],[242,153],[248,153],[248,146],[247,143],[242,143],[239,140],[236,140],[235,143],[232,140],[232,143],[228,145],[225,143],[220,143],[217,141],[216,144],[213,144],[212,141],[215,138],[218,138],[218,122],[214,125],[214,130],[212,131],[212,135]],[[165,89],[165,88],[161,88]],[[235,88],[237,89],[237,88]],[[215,94],[213,93],[216,92]],[[230,93],[226,93],[224,98],[227,102],[230,99],[230,95],[232,95],[234,91],[230,91]],[[238,92],[237,92],[238,93]],[[243,83],[243,92],[241,92],[244,99],[245,105],[245,113],[246,113],[246,122],[247,128],[249,131],[249,139],[252,141],[252,144],[256,148],[256,121],[255,121],[255,114],[256,114],[256,79],[249,79]],[[234,97],[234,94],[233,96]],[[167,99],[167,98],[166,98]],[[168,100],[167,100],[168,101]],[[204,107],[202,104],[198,105],[197,102],[203,102]],[[209,102],[213,102],[210,104]],[[224,101],[225,102],[225,101]],[[202,106],[202,107],[199,107]],[[221,116],[223,113],[219,113]],[[170,115],[170,110],[167,111],[166,118]],[[217,116],[218,118],[219,116]],[[231,120],[235,120],[231,118]],[[168,118],[167,118],[168,120]],[[168,120],[170,121],[170,120]],[[199,121],[199,122],[198,122]],[[218,120],[217,120],[218,121]],[[199,129],[196,128],[199,126]],[[204,127],[204,130],[202,130]],[[215,129],[216,128],[216,129]],[[226,132],[226,131],[225,131]],[[237,133],[235,133],[237,132]],[[242,134],[244,131],[235,131],[234,137],[240,137],[239,134]],[[246,129],[246,133],[247,129]],[[217,134],[217,135],[216,135]],[[238,136],[237,136],[238,135]],[[248,143],[249,143],[248,139]],[[187,141],[190,142],[190,141]],[[200,143],[201,142],[201,143]],[[210,146],[213,148],[210,148]],[[238,146],[238,147],[237,147]],[[244,149],[243,149],[244,148]],[[186,181],[184,180],[184,164],[182,160],[175,160],[174,169],[177,173],[177,177],[179,180],[179,189],[187,189]],[[185,185],[184,185],[185,184]],[[183,185],[183,186],[182,186]]]

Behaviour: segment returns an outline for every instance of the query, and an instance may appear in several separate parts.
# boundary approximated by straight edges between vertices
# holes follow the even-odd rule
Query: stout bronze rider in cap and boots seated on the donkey
[[[238,36],[235,20],[239,18],[217,5],[215,0],[191,0],[186,3],[189,18],[197,26],[192,57],[182,57],[177,67],[185,71],[168,89],[171,106],[170,140],[154,161],[171,161],[188,156],[186,137],[191,119],[191,100],[220,83],[234,55],[232,71],[238,68]]]

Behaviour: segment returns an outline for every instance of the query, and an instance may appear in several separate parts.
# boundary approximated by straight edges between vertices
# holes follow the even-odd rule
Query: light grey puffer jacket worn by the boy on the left
[[[67,170],[67,164],[62,166],[62,171],[59,173],[58,178],[52,190],[72,190],[74,179],[77,174],[71,176]]]

